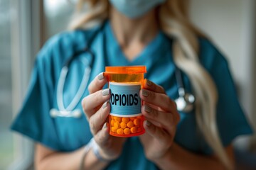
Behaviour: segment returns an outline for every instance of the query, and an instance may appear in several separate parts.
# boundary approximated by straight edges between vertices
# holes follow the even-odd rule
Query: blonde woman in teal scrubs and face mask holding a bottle
[[[51,38],[39,52],[28,96],[12,125],[36,141],[37,169],[233,169],[232,141],[252,130],[227,61],[189,22],[187,6],[186,0],[78,2],[73,30]],[[71,62],[62,106],[73,101],[82,83],[83,60],[93,60],[82,106],[75,106],[85,114],[52,118],[50,109],[60,108],[62,101],[57,91],[61,68],[88,46],[95,57],[83,52]],[[174,64],[183,71],[186,91],[196,96],[191,113],[176,111]],[[147,103],[142,106],[144,135],[108,134],[110,91],[102,90],[107,79],[99,74],[107,65],[146,65],[140,91]]]

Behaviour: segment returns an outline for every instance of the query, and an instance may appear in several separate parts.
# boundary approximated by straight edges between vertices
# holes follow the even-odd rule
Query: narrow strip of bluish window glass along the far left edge
[[[11,16],[10,1],[0,1],[0,169],[14,158],[14,137],[9,130],[12,120],[11,99]]]

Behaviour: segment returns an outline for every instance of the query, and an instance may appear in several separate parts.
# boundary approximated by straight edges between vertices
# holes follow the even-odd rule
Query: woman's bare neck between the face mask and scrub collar
[[[117,41],[122,48],[128,47],[132,43],[146,45],[159,30],[155,9],[141,18],[130,19],[112,7],[110,9],[110,21]]]

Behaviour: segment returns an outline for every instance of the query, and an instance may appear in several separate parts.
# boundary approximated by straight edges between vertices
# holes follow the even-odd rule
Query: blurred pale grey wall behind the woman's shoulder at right
[[[255,4],[255,0],[191,0],[191,19],[228,58],[240,102],[254,127]],[[252,137],[240,137],[245,145],[249,141]]]

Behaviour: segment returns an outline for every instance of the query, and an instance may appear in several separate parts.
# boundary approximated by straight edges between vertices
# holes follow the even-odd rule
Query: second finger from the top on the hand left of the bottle
[[[97,108],[110,99],[110,89],[100,90],[82,99],[82,109],[87,118],[97,111]]]

